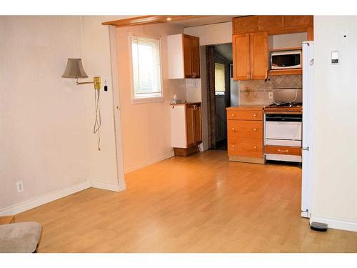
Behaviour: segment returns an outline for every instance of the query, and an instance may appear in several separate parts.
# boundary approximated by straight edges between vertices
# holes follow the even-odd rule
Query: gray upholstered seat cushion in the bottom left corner
[[[41,224],[19,222],[0,225],[0,252],[35,252],[41,235]]]

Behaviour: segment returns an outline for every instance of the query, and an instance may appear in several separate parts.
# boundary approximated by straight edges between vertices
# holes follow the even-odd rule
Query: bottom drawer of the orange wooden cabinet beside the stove
[[[263,139],[228,137],[228,155],[263,157]]]

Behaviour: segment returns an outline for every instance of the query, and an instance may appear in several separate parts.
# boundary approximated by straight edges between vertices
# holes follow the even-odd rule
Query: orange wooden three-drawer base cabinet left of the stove
[[[264,164],[263,107],[227,108],[227,137],[230,161]]]

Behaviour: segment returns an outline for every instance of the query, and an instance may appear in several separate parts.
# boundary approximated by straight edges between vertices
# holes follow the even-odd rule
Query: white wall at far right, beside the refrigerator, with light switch
[[[314,16],[314,32],[312,216],[357,231],[357,16]]]

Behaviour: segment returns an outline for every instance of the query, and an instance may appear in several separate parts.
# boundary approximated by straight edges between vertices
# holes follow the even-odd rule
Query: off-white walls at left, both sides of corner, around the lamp
[[[0,214],[29,209],[92,182],[121,188],[109,29],[101,25],[111,19],[0,16]],[[61,78],[69,57],[83,58],[89,79],[99,75],[108,81],[109,91],[101,91],[100,152],[92,134],[93,85]],[[20,180],[24,192],[17,193]]]

